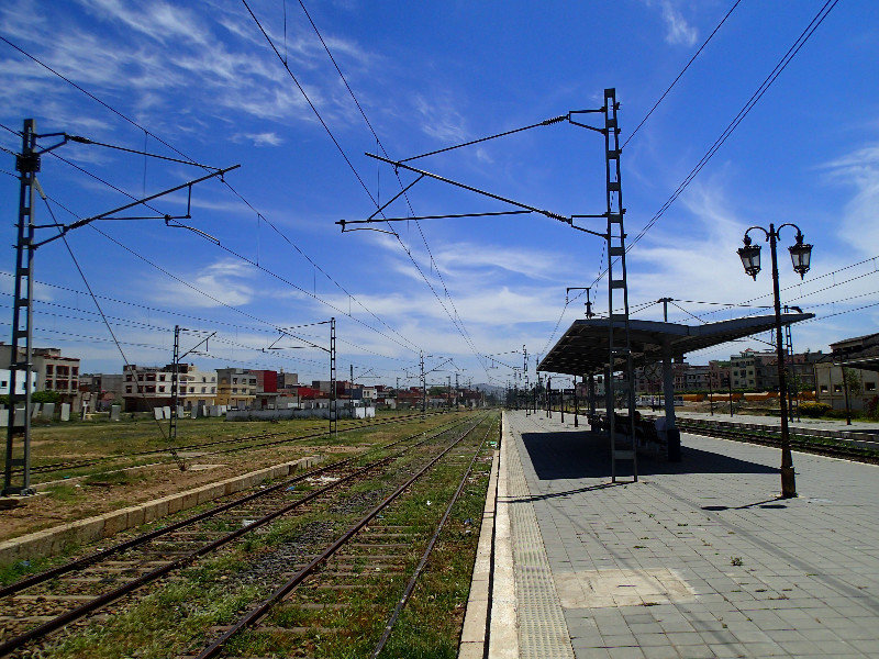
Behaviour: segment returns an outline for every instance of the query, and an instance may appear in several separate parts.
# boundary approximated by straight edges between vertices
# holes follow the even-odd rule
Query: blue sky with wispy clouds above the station
[[[169,361],[171,330],[180,324],[197,331],[185,347],[199,333],[218,333],[208,354],[196,357],[203,367],[249,365],[325,378],[322,350],[292,349],[303,345],[292,338],[276,344],[291,349],[263,348],[278,338],[276,327],[334,315],[340,376],[354,364],[355,376],[368,373],[369,381],[393,383],[401,376],[412,384],[405,378],[416,372],[419,350],[431,355],[429,368],[438,367],[429,378],[433,382],[455,372],[465,381],[505,382],[511,371],[504,365],[520,365],[521,355],[497,357],[497,368],[478,355],[523,345],[531,355],[545,354],[582,317],[582,300],[566,306],[565,288],[591,284],[603,270],[604,250],[601,239],[541,215],[398,223],[399,238],[343,235],[337,220],[365,219],[375,211],[374,199],[383,202],[400,191],[393,170],[364,152],[383,147],[405,158],[598,108],[605,87],[616,88],[626,139],[733,4],[305,2],[379,146],[302,5],[248,3],[363,185],[245,5],[233,0],[3,2],[0,35],[151,135],[2,42],[0,121],[20,130],[24,118],[34,118],[38,132],[179,157],[160,138],[202,164],[241,164],[226,180],[253,208],[216,181],[193,190],[187,223],[219,245],[162,221],[100,222],[70,234],[70,248],[130,361]],[[687,177],[822,5],[738,3],[623,153],[630,236]],[[879,303],[872,259],[879,256],[877,27],[876,3],[839,0],[631,250],[633,309],[664,295],[771,303],[768,268],[752,281],[735,250],[749,225],[795,222],[815,245],[813,267],[800,283],[785,248],[793,243],[788,230],[781,278],[790,288],[782,297],[819,316],[795,327],[795,348],[826,350],[831,342],[876,331],[879,305],[867,305]],[[0,146],[18,149],[19,138],[0,130]],[[600,135],[559,123],[416,164],[563,215],[600,213],[602,149]],[[56,153],[134,196],[202,174],[98,146],[69,144]],[[12,157],[2,158],[1,169],[12,172]],[[401,172],[401,179],[408,183],[412,177]],[[78,216],[129,199],[52,156],[44,157],[40,180]],[[11,245],[16,180],[0,175],[0,193],[10,220],[0,231]],[[418,215],[508,208],[426,180],[409,200]],[[156,208],[181,213],[185,198],[170,197]],[[60,221],[73,220],[58,205],[53,210]],[[36,212],[49,220],[42,202]],[[401,199],[388,213],[405,215],[409,206]],[[13,256],[9,249],[5,265],[0,261],[8,317]],[[37,345],[79,355],[87,371],[119,371],[122,357],[60,242],[37,252],[36,280]],[[597,289],[597,310],[605,311],[607,280]],[[710,321],[758,311],[678,304],[686,311],[672,306],[671,321],[699,322],[688,312],[711,312],[703,316]],[[867,308],[856,310],[861,306]],[[653,305],[637,317],[660,315]],[[9,335],[9,321],[0,331]],[[327,345],[325,325],[296,332]],[[757,339],[727,344],[690,360],[706,362],[745,347],[768,346]],[[442,365],[446,358],[454,367]]]

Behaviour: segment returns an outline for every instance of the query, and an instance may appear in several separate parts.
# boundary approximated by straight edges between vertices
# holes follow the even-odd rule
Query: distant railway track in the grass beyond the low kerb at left
[[[442,414],[442,412],[434,412],[427,414],[427,416],[435,416],[436,414]],[[351,431],[357,431],[361,428],[370,428],[381,425],[394,424],[394,423],[403,423],[407,421],[412,421],[414,418],[420,418],[421,414],[408,414],[404,416],[394,416],[393,418],[385,418],[380,421],[374,421],[370,423],[351,423],[348,425],[344,425],[340,428],[341,433],[346,433]],[[343,422],[345,423],[345,422]],[[316,428],[324,428],[322,432],[311,432],[315,431]],[[189,450],[201,450],[207,447],[215,447],[215,446],[229,446],[235,444],[246,443],[244,446],[234,446],[233,448],[220,449],[220,450],[209,450],[205,451],[203,455],[222,455],[227,453],[235,453],[238,450],[247,450],[252,448],[263,448],[268,446],[276,446],[278,444],[286,444],[288,442],[293,442],[297,439],[313,439],[315,437],[322,437],[327,434],[326,424],[315,425],[308,428],[300,428],[300,432],[304,432],[305,434],[293,434],[289,431],[280,431],[277,433],[260,433],[257,435],[246,435],[243,437],[232,437],[230,439],[218,439],[213,442],[203,442],[200,444],[190,444],[190,445],[181,445],[175,446],[174,449],[177,451],[189,451]],[[280,437],[280,439],[278,438]],[[88,460],[67,460],[63,462],[51,462],[45,465],[35,465],[31,467],[32,474],[41,474],[41,473],[60,473],[64,471],[71,471],[76,469],[84,469],[87,467],[94,467],[96,465],[108,466],[110,468],[119,467],[124,468],[122,465],[114,465],[114,462],[124,463],[125,461],[134,461],[140,458],[148,458],[149,456],[163,456],[167,455],[170,450],[170,447],[166,448],[157,448],[157,449],[149,449],[149,450],[142,450],[142,451],[133,451],[130,454],[122,454],[122,455],[113,455],[113,456],[105,456],[100,458],[93,458]],[[156,462],[151,462],[156,463]],[[140,467],[148,466],[148,465],[138,465]],[[14,472],[20,472],[21,469],[13,470]],[[36,483],[40,484],[40,483]]]

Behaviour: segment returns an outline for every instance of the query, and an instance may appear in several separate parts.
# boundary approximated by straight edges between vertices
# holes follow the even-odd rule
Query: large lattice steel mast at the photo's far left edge
[[[15,289],[12,303],[12,345],[9,365],[9,423],[7,425],[7,455],[3,471],[3,494],[33,494],[31,489],[31,393],[33,373],[31,372],[33,339],[33,293],[34,293],[34,181],[40,171],[40,155],[36,152],[36,122],[24,121],[22,130],[21,155],[15,158],[19,181],[19,222],[15,242]],[[23,312],[23,313],[22,313]],[[24,339],[23,355],[21,342]],[[19,377],[24,378],[24,393],[18,389]],[[22,427],[15,426],[15,405],[24,403]],[[15,437],[21,432],[22,454],[15,457]],[[13,484],[13,467],[20,467],[21,484]]]

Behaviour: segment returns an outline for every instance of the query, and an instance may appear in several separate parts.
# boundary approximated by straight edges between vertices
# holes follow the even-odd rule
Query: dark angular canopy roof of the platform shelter
[[[781,324],[799,323],[814,317],[813,313],[781,314]],[[575,321],[558,339],[549,354],[537,365],[537,370],[553,373],[582,376],[602,372],[608,366],[609,319]],[[661,321],[632,319],[628,322],[632,355],[635,366],[660,361],[664,355],[683,357],[687,353],[710,348],[736,338],[772,330],[776,316],[760,315],[703,325],[682,325]],[[624,324],[614,321],[614,343],[622,339]],[[614,370],[624,365],[619,357]]]

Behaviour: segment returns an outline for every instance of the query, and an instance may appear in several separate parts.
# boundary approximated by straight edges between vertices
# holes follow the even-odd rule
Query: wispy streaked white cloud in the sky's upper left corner
[[[283,70],[249,15],[238,9],[214,5],[211,12],[196,13],[179,3],[154,1],[130,3],[121,0],[79,0],[92,25],[69,21],[58,31],[47,21],[47,8],[29,0],[0,5],[0,30],[48,66],[73,81],[96,91],[112,104],[124,96],[129,112],[159,132],[187,131],[187,122],[171,126],[165,111],[169,98],[185,94],[190,103],[199,103],[203,112],[223,115],[238,112],[251,118],[289,124],[291,121],[314,122],[314,115],[302,93]],[[226,33],[224,29],[234,30]],[[269,34],[276,43],[282,34]],[[292,30],[292,29],[291,29]],[[121,42],[119,34],[125,34]],[[220,37],[222,35],[222,38]],[[334,35],[325,35],[343,69],[349,77],[367,70],[376,56],[358,44]],[[312,102],[324,118],[351,118],[353,103],[347,90],[337,82],[320,41],[304,27],[288,34],[288,62],[303,78],[313,72],[320,86],[300,79]],[[0,102],[16,114],[33,115],[23,99],[41,96],[62,99],[78,92],[71,90],[51,71],[18,54],[3,53],[0,76],[7,83],[0,88]],[[326,83],[327,80],[333,82]],[[26,92],[26,93],[25,93]],[[363,100],[363,99],[361,99]],[[64,103],[57,103],[63,109]],[[58,121],[49,109],[44,116]],[[204,118],[190,115],[198,124]],[[68,127],[68,126],[65,126]],[[107,136],[105,132],[103,135]],[[257,146],[279,144],[274,131],[254,133]]]

